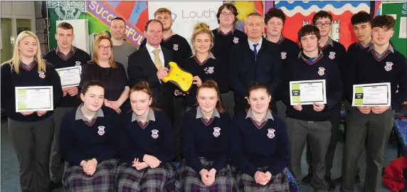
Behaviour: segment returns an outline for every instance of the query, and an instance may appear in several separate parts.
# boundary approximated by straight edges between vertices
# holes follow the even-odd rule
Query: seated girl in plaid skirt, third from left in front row
[[[234,191],[228,166],[231,118],[221,107],[218,86],[207,80],[196,90],[198,107],[182,121],[184,162],[179,169],[179,191]]]

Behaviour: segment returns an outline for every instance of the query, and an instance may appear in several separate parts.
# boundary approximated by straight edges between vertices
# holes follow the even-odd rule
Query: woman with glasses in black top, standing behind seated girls
[[[80,87],[89,80],[99,80],[105,85],[105,105],[117,113],[127,112],[129,107],[122,106],[129,97],[127,75],[121,63],[115,62],[112,52],[112,40],[108,36],[98,35],[93,44],[92,60],[83,65]],[[126,105],[127,106],[127,105]]]

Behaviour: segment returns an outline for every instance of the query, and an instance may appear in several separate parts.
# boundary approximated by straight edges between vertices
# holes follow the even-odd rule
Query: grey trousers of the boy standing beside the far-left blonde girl
[[[73,110],[74,107],[56,107],[53,112],[53,122],[55,124],[55,131],[53,135],[52,149],[51,149],[51,181],[60,183],[62,181],[64,164],[60,159],[59,154],[59,134],[60,124],[62,123],[63,116],[67,112]]]

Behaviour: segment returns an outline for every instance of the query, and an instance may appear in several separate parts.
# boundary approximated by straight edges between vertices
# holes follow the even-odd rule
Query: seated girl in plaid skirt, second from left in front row
[[[122,119],[117,191],[174,191],[174,131],[166,113],[152,107],[147,82],[130,90],[132,112]]]

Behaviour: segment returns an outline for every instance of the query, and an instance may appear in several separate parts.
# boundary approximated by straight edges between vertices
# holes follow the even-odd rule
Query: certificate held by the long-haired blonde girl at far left
[[[53,110],[53,87],[16,87],[16,112]]]

